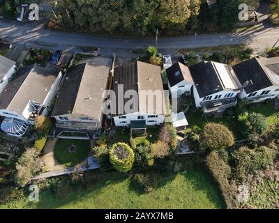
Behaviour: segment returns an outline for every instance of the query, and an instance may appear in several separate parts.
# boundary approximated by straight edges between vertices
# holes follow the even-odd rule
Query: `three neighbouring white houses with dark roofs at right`
[[[172,98],[193,94],[204,113],[224,112],[237,98],[260,102],[279,95],[279,57],[257,56],[232,67],[202,61],[188,68],[178,62],[166,71]]]

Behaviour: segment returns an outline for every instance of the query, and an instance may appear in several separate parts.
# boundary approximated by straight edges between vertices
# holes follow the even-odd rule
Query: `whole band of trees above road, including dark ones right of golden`
[[[239,22],[238,5],[239,0],[218,0],[215,10],[202,0],[61,0],[50,27],[133,36],[150,36],[156,29],[167,35],[206,29],[199,21],[230,29]]]

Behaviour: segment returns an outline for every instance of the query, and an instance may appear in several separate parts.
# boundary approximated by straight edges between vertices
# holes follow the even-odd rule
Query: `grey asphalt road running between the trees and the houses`
[[[133,49],[155,45],[154,38],[128,38],[98,36],[84,33],[63,33],[50,31],[45,26],[33,23],[0,19],[0,38],[11,43],[32,44],[34,41],[56,45],[60,49],[73,50],[77,46],[100,47],[110,54],[129,54]],[[218,33],[195,36],[159,37],[158,49],[163,53],[175,54],[178,49],[212,47],[218,45],[247,44],[262,51],[266,47],[279,46],[279,28],[259,25],[252,31],[241,33]]]

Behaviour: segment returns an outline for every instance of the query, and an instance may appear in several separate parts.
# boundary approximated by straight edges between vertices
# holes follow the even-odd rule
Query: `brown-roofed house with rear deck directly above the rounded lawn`
[[[111,68],[112,58],[100,56],[67,70],[52,112],[56,119],[55,137],[93,139],[100,136],[103,92],[109,86]]]

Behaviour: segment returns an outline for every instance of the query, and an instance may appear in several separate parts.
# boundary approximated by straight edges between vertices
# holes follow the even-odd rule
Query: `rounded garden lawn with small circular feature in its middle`
[[[71,145],[76,146],[76,151],[69,152]],[[89,140],[59,139],[54,147],[54,157],[59,164],[66,167],[74,167],[83,162],[90,153]]]

